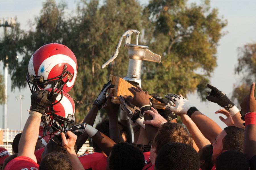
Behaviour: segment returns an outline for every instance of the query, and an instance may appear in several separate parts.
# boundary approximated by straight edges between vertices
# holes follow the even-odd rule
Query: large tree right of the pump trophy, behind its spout
[[[216,51],[226,21],[218,10],[210,10],[209,1],[201,6],[186,0],[151,0],[144,9],[150,29],[146,43],[162,54],[162,62],[144,62],[145,89],[160,94],[186,95],[197,90],[205,100],[206,84],[216,67]]]

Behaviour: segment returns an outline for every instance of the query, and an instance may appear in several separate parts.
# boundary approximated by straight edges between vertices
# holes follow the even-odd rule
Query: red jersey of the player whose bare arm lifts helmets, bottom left
[[[39,165],[31,158],[18,156],[5,166],[5,170],[38,170]]]

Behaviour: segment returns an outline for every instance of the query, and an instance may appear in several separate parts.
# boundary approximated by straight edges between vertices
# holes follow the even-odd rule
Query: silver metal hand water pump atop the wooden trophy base
[[[136,44],[131,44],[131,34],[136,34]],[[139,34],[140,32],[137,30],[128,30],[123,33],[120,38],[117,48],[115,50],[115,54],[110,58],[106,63],[104,63],[101,67],[104,69],[106,65],[111,63],[118,55],[119,49],[121,47],[123,39],[125,39],[124,46],[128,49],[128,57],[129,57],[129,65],[126,77],[123,79],[128,81],[133,85],[139,85],[141,87],[141,65],[142,61],[152,61],[156,63],[161,62],[161,56],[158,54],[154,54],[150,50],[148,50],[148,46],[138,45],[139,42]]]

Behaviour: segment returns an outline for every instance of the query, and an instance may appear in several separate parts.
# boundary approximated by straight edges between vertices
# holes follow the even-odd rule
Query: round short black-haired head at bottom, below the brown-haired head
[[[198,170],[197,151],[184,143],[168,143],[159,150],[156,157],[156,170]]]

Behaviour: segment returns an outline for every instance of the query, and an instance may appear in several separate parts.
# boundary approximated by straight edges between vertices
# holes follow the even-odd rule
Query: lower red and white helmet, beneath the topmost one
[[[45,89],[51,92],[52,88]],[[75,124],[75,103],[74,100],[66,92],[58,94],[55,104],[46,109],[46,114],[42,115],[40,129],[46,132],[65,132],[73,128]]]

